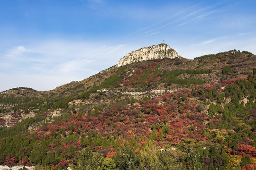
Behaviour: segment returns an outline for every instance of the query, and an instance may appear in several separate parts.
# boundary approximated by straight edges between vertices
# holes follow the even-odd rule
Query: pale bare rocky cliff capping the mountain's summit
[[[117,67],[149,59],[174,59],[180,57],[181,56],[174,49],[170,48],[167,44],[162,43],[129,52],[126,56],[124,56],[124,58],[119,60]]]

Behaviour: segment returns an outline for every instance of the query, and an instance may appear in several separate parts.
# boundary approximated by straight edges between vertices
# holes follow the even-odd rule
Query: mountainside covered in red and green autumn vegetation
[[[0,164],[252,170],[256,55],[153,53],[51,91],[1,92]]]

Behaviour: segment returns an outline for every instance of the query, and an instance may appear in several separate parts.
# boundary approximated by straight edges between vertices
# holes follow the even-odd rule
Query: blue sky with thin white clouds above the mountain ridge
[[[165,40],[182,57],[256,53],[256,0],[0,0],[0,91],[80,81]]]

